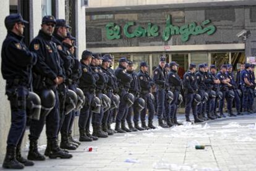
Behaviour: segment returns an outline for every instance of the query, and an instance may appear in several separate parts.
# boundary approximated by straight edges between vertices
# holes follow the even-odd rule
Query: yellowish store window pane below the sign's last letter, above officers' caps
[[[211,64],[215,64],[217,69],[220,69],[221,65],[229,63],[229,53],[211,53]]]

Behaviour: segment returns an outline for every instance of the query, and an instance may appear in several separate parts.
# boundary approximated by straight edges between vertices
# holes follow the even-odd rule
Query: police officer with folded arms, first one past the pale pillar
[[[87,100],[79,115],[79,141],[98,140],[98,137],[90,134],[90,118],[92,117],[91,104],[95,97],[96,80],[99,79],[98,74],[93,72],[90,67],[92,58],[94,58],[92,52],[83,51],[80,60],[82,77],[80,77],[79,80],[79,88],[81,88]]]

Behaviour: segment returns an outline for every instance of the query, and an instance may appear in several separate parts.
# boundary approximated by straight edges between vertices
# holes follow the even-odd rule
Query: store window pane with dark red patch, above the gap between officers
[[[183,75],[188,69],[188,65],[189,65],[188,57],[189,57],[188,54],[171,54],[171,60],[179,64],[179,69],[177,73],[181,78],[183,78]]]

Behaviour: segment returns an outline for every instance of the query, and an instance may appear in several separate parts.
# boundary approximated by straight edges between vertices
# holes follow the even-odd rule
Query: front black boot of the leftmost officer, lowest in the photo
[[[15,157],[16,148],[14,146],[7,146],[6,157],[2,163],[4,169],[23,169],[24,165],[17,161]]]

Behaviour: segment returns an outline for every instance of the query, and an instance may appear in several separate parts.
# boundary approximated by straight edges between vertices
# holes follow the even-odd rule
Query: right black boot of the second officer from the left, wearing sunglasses
[[[71,157],[73,157],[72,154],[64,152],[59,148],[58,140],[51,140],[50,146],[51,146],[51,152],[49,153],[50,159],[56,159],[58,157],[61,159],[70,159]]]

